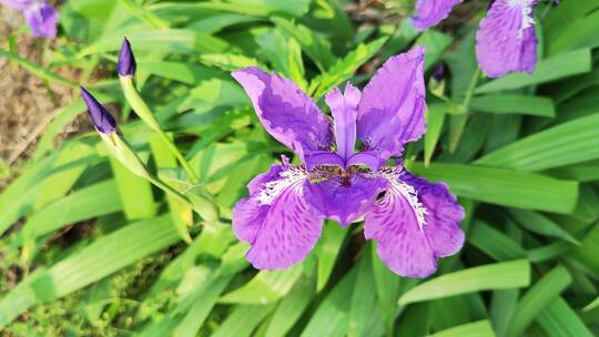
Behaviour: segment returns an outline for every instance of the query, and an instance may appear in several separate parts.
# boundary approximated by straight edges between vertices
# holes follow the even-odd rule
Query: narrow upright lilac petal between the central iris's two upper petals
[[[361,99],[362,93],[349,82],[345,85],[345,94],[335,88],[325,98],[333,114],[336,152],[344,161],[349,159],[356,147],[356,118]]]

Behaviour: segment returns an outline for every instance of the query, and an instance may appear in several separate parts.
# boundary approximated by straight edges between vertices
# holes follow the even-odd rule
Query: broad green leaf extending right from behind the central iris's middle
[[[415,174],[443,181],[455,194],[477,201],[524,210],[570,213],[578,200],[576,182],[538,174],[475,165],[422,163],[409,166]]]

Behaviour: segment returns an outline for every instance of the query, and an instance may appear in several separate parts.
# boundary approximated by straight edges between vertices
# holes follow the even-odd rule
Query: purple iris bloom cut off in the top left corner
[[[58,11],[44,0],[0,0],[12,7],[23,17],[35,37],[52,39],[57,35]]]

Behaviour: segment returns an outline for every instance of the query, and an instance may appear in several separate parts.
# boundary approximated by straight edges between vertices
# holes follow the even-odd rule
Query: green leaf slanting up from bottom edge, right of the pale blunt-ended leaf
[[[535,317],[568,287],[572,278],[566,268],[557,266],[537,282],[518,302],[506,336],[520,336]]]

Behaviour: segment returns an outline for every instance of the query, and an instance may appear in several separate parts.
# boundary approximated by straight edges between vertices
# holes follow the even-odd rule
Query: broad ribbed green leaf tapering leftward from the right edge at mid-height
[[[538,132],[494,151],[476,163],[540,171],[599,159],[599,114]]]

